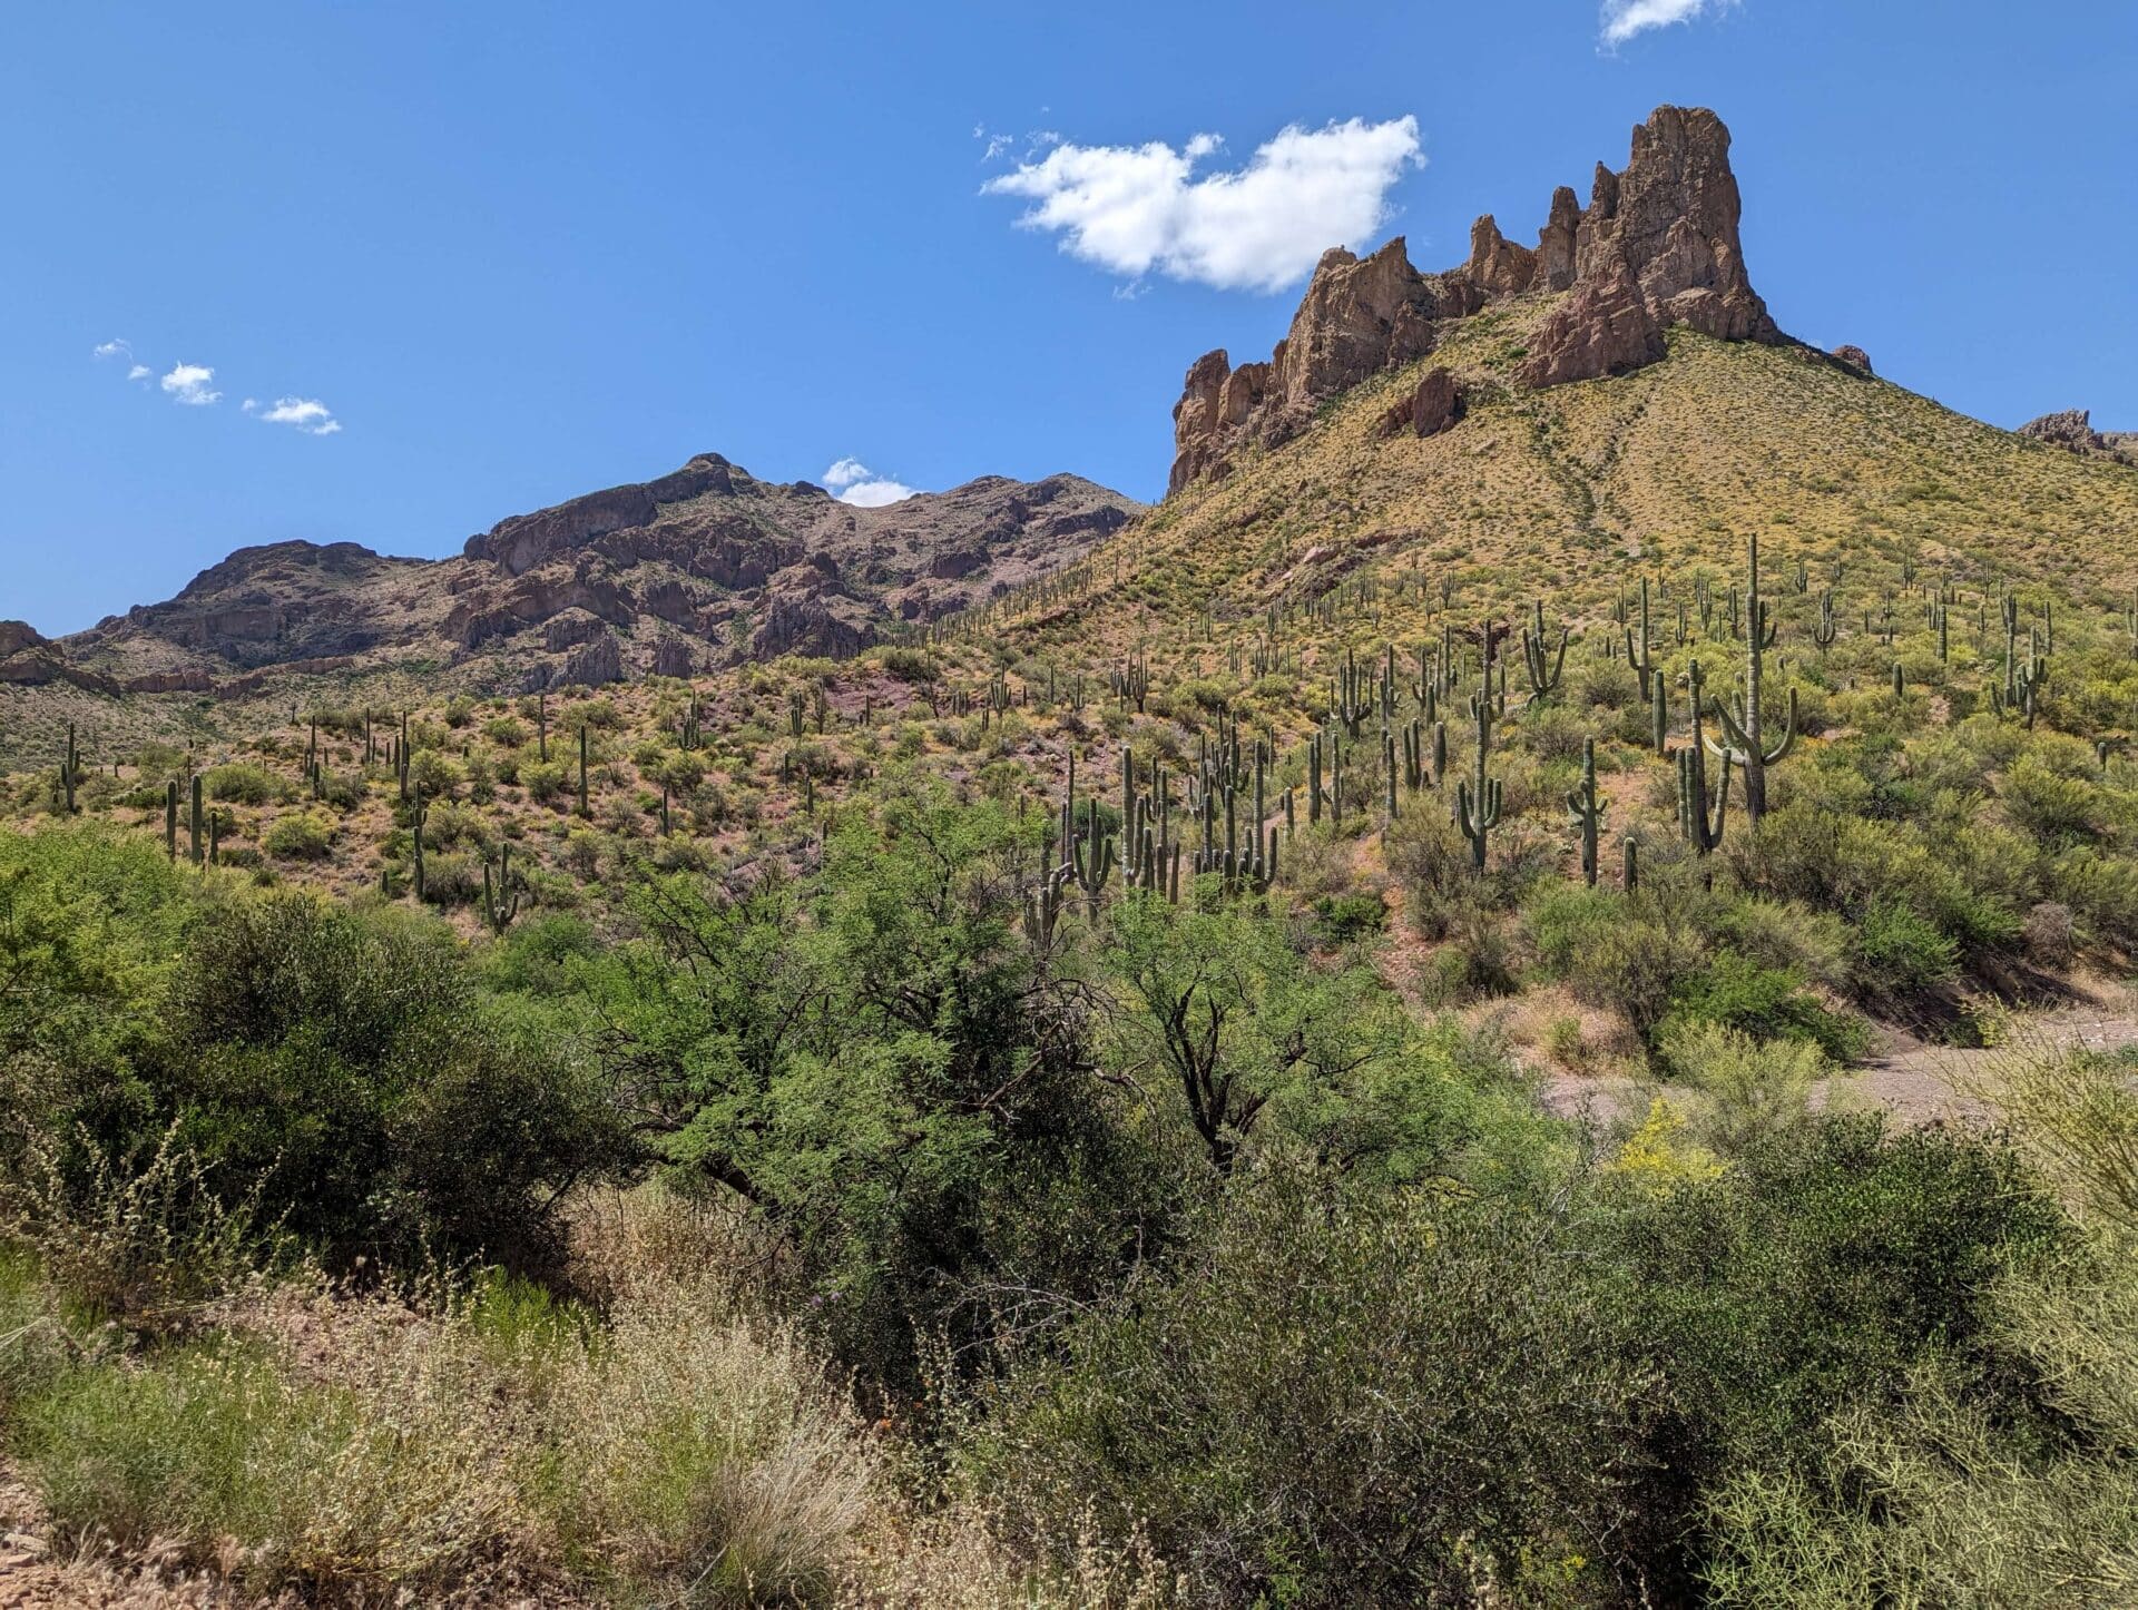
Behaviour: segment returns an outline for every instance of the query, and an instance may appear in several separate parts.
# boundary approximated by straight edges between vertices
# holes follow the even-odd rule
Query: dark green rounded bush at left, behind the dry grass
[[[592,1071],[485,1005],[440,924],[272,894],[201,913],[188,954],[143,1120],[334,1266],[423,1242],[539,1266],[549,1189],[624,1155]]]

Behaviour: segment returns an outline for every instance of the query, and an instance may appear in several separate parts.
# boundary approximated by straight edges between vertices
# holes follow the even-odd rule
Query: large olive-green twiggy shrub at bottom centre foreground
[[[1210,1604],[1552,1597],[1623,1522],[1646,1379],[1565,1214],[1279,1170],[1013,1377],[973,1482],[1028,1542],[1137,1522]]]

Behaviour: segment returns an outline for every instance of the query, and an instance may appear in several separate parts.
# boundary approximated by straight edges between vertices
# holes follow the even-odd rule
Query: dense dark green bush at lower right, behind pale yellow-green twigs
[[[1642,1522],[1648,1591],[1689,1591],[1704,1492],[1813,1465],[1843,1405],[1881,1411],[1941,1358],[1993,1360],[1995,1283],[2052,1257],[2063,1214],[2018,1155],[1961,1131],[1819,1116],[1753,1140],[1710,1180],[1627,1199],[1610,1257],[1663,1377]],[[2012,1405],[1990,1377],[1986,1407]],[[1999,1396],[2003,1394],[2003,1396]]]

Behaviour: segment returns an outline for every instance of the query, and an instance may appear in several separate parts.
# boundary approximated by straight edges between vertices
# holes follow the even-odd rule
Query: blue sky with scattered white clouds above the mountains
[[[0,618],[697,451],[1157,496],[1184,368],[1266,355],[1321,235],[1533,239],[1663,100],[1730,122],[1785,329],[2138,428],[2134,86],[2129,0],[17,6]]]

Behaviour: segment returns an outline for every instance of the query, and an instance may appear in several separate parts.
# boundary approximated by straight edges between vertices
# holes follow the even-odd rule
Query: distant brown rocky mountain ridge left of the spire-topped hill
[[[532,688],[842,656],[1048,575],[1137,509],[1073,475],[983,477],[857,509],[701,453],[654,481],[500,520],[449,560],[274,543],[56,644],[0,626],[0,682],[250,693],[274,674],[425,661]]]

